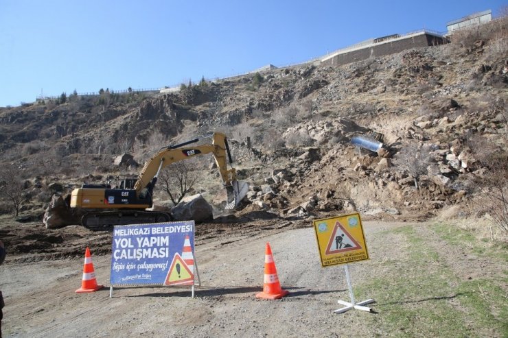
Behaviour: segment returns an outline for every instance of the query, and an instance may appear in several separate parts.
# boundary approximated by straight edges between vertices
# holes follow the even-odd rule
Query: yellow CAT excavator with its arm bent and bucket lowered
[[[212,138],[211,144],[185,147],[204,138]],[[207,136],[162,147],[152,156],[137,179],[124,179],[118,186],[109,184],[83,184],[71,193],[71,208],[80,208],[84,216],[82,226],[91,230],[107,230],[115,225],[146,224],[171,221],[168,213],[146,210],[153,204],[153,190],[161,170],[181,160],[194,156],[212,154],[216,161],[222,183],[227,191],[226,209],[233,209],[249,191],[247,182],[236,180],[235,168],[227,169],[231,152],[226,135],[213,132]]]

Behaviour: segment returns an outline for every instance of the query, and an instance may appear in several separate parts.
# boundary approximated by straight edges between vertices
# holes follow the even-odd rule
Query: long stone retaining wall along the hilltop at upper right
[[[420,32],[392,40],[383,41],[382,43],[373,43],[366,47],[358,47],[358,49],[344,51],[334,56],[323,58],[321,64],[329,66],[340,66],[351,62],[367,60],[368,58],[378,58],[393,53],[399,53],[406,49],[416,47],[428,47],[434,45],[442,45],[446,43],[445,38],[429,34],[428,32]]]

